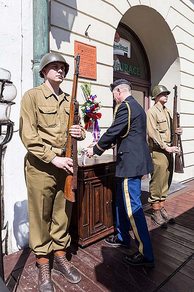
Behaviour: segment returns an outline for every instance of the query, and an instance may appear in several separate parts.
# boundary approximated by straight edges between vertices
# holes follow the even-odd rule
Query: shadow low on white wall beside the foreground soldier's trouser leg
[[[29,245],[28,201],[18,201],[14,205],[14,236],[19,250]]]

